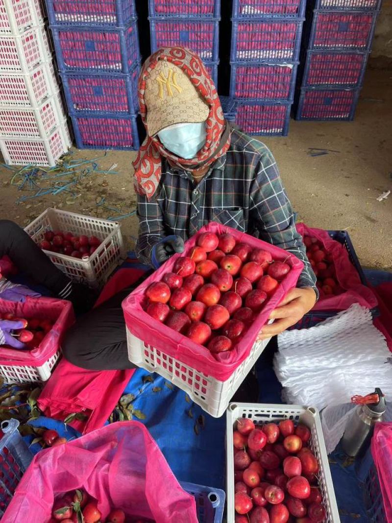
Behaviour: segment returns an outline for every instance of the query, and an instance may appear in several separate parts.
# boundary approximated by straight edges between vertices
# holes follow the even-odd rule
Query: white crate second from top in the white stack
[[[52,51],[46,31],[41,24],[17,36],[0,33],[0,72],[28,73],[37,64],[50,60]]]

